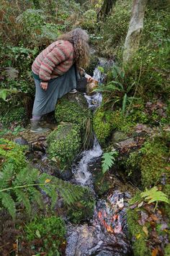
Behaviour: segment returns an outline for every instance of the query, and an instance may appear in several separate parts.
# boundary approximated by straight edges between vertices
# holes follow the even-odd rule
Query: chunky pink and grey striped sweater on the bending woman
[[[41,81],[49,81],[67,72],[73,61],[73,45],[67,40],[57,40],[37,56],[32,64],[32,72]]]

